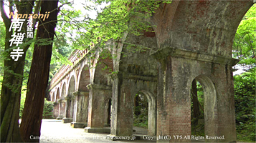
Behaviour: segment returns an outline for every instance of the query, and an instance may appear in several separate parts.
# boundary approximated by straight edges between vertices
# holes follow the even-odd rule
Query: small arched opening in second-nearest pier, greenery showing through
[[[133,97],[133,134],[156,135],[156,99],[153,94],[141,91]],[[137,127],[142,127],[140,129]]]

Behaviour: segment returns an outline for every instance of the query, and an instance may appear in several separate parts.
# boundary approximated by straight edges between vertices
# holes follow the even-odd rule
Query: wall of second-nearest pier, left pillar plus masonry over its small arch
[[[133,134],[133,99],[141,91],[156,95],[156,81],[142,80],[143,77],[132,79],[128,74],[119,72],[113,77],[113,109],[111,134],[116,136],[131,136]],[[117,83],[118,82],[118,83]],[[116,87],[115,87],[116,86]],[[156,98],[156,97],[153,97]]]

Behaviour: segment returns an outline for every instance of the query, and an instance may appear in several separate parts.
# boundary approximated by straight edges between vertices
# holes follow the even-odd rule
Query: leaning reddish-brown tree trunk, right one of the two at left
[[[52,11],[49,18],[39,21],[37,39],[54,38],[57,24],[58,1],[42,1],[41,14]],[[35,44],[32,66],[27,84],[27,96],[23,110],[21,134],[24,142],[39,142],[44,108],[44,95],[49,78],[49,64],[52,56],[52,42],[50,44]],[[33,139],[37,137],[37,139]],[[32,138],[32,139],[31,139]]]

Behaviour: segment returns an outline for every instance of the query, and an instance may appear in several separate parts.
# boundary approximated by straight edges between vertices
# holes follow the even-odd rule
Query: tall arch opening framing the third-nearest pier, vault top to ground
[[[93,83],[90,84],[88,130],[110,127],[113,61],[110,51],[100,53],[97,64],[93,65]],[[86,131],[87,132],[87,131]]]

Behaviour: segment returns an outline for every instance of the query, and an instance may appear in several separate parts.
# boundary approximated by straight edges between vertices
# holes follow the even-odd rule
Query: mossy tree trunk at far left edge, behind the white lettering
[[[31,14],[34,1],[19,1],[24,7],[16,6],[19,14]],[[12,30],[11,19],[5,14],[4,2],[0,1],[1,17],[4,20],[6,28],[5,47],[4,47],[4,79],[1,87],[1,139],[0,142],[22,142],[19,134],[19,107],[22,90],[22,79],[24,70],[24,60],[26,51],[29,45],[22,46],[24,54],[19,57],[18,61],[11,59],[11,46],[9,39],[11,39]],[[12,9],[12,5],[9,6]],[[25,31],[26,21],[24,21],[22,32]]]

